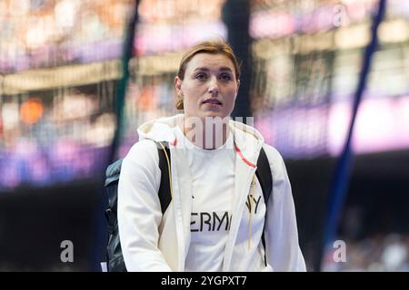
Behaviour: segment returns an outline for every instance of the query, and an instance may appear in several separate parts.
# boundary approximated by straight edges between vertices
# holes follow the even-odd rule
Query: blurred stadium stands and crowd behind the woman
[[[234,117],[254,116],[284,156],[308,269],[409,271],[409,2],[401,0],[386,2],[355,121],[336,226],[347,261],[334,263],[329,251],[316,263],[378,3],[0,0],[0,271],[100,270],[111,152],[124,157],[139,124],[175,114],[182,53],[218,36],[244,63]],[[63,240],[74,243],[73,263],[60,260]]]

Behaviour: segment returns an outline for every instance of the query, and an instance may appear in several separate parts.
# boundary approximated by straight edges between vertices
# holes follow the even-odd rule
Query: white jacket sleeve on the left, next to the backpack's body
[[[137,142],[126,155],[118,184],[118,227],[128,271],[172,271],[158,248],[162,219],[157,195],[161,171],[155,142]]]

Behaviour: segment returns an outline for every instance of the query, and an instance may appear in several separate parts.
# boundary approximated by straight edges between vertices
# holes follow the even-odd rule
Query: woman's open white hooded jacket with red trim
[[[177,146],[176,115],[149,121],[139,129],[139,141],[126,155],[118,185],[118,227],[128,271],[185,271],[190,245],[192,179],[183,150]],[[305,271],[298,245],[294,201],[284,160],[277,150],[264,144],[253,127],[230,121],[234,135],[235,187],[232,222],[224,249],[223,271]],[[171,157],[172,201],[162,215],[157,195],[161,170],[153,141],[167,141]],[[265,207],[264,198],[252,215],[247,201],[256,162],[264,148],[273,175],[273,192]],[[218,165],[215,165],[218,166]],[[263,197],[255,179],[254,195]],[[247,213],[245,213],[247,211]],[[261,236],[265,221],[265,256]],[[249,240],[250,239],[250,240]]]

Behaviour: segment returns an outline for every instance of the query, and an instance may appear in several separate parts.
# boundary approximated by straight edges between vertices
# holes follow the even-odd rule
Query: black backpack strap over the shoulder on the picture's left
[[[161,142],[164,145],[165,150],[162,146],[156,142],[157,153],[159,155],[159,169],[161,169],[161,185],[159,187],[158,196],[161,202],[162,214],[165,213],[166,208],[169,206],[172,196],[170,191],[170,150],[168,142]],[[169,166],[167,164],[167,159],[165,152],[169,158]]]

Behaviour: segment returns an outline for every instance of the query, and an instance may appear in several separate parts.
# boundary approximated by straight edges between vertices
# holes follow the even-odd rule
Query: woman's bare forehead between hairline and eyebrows
[[[218,70],[222,67],[228,67],[234,72],[234,64],[226,55],[218,53],[197,53],[187,63],[186,70],[194,71],[196,68],[207,68],[209,70]]]

